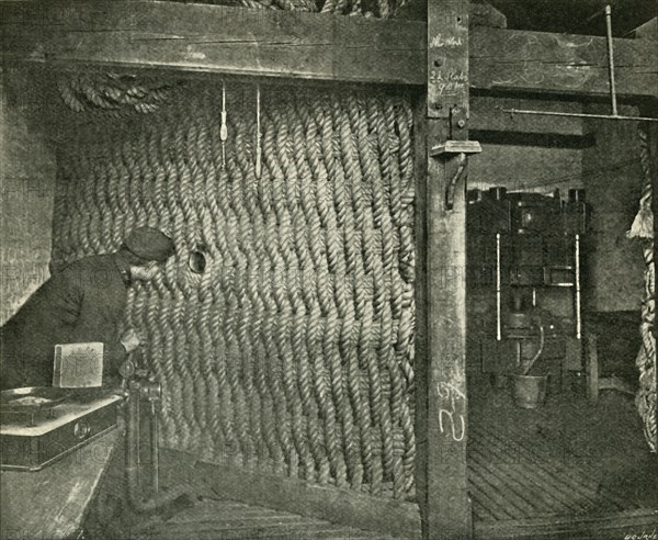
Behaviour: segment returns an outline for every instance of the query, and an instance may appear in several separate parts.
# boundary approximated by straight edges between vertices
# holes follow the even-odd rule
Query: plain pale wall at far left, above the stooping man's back
[[[0,325],[49,277],[55,150],[34,74],[0,68]]]

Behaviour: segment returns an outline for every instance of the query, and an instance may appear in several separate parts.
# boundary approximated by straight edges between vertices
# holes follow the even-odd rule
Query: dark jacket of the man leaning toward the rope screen
[[[103,385],[125,358],[118,341],[129,268],[120,254],[80,259],[46,281],[2,327],[2,389],[50,386],[55,345],[104,344]]]

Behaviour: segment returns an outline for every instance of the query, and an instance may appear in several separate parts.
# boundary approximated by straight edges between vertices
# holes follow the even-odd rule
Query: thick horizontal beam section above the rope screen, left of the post
[[[35,60],[401,85],[424,72],[424,25],[393,20],[116,0],[4,2],[0,26],[5,55]]]

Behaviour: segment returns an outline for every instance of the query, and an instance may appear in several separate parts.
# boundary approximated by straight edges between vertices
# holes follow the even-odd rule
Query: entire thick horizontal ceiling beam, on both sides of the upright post
[[[426,82],[426,24],[157,1],[0,2],[4,60]],[[442,43],[442,36],[434,38]],[[450,43],[443,44],[450,47]],[[608,95],[603,37],[474,27],[472,89]],[[658,97],[649,40],[614,40],[617,94]],[[449,85],[454,74],[436,68]],[[447,87],[446,87],[447,88]]]

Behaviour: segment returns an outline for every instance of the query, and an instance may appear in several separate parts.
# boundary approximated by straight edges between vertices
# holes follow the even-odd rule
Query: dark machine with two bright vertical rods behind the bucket
[[[548,374],[552,390],[580,372],[585,191],[563,200],[468,192],[468,369],[491,375]]]

